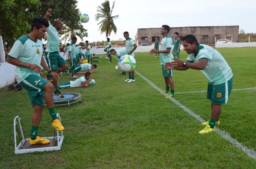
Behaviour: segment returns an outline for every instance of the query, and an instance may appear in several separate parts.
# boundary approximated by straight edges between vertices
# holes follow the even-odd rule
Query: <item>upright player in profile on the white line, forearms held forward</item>
[[[172,61],[172,39],[170,35],[168,35],[168,32],[170,31],[170,27],[168,25],[163,25],[161,29],[161,35],[163,35],[163,39],[161,41],[161,47],[160,50],[152,49],[150,51],[150,54],[153,53],[160,53],[160,65],[162,65],[162,72],[164,76],[164,81],[166,85],[166,90],[160,92],[162,93],[169,93],[168,96],[165,98],[171,98],[174,97],[174,81],[172,79],[172,69],[164,70],[164,63]],[[170,90],[171,88],[171,90]]]

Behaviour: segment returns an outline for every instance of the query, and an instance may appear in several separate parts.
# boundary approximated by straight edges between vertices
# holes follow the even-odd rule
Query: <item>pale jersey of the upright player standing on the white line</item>
[[[161,41],[160,51],[164,51],[166,49],[170,49],[170,53],[160,53],[160,65],[164,65],[166,62],[172,61],[172,39],[170,35],[166,35]]]

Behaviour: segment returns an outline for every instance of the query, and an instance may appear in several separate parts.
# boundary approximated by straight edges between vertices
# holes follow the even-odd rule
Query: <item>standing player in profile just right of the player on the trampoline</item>
[[[71,79],[76,79],[77,77],[74,76],[75,73],[75,67],[77,65],[76,61],[76,41],[77,37],[72,38],[72,43],[70,43],[69,51],[68,51],[68,56],[69,56],[69,65],[71,67],[70,72],[71,72]]]

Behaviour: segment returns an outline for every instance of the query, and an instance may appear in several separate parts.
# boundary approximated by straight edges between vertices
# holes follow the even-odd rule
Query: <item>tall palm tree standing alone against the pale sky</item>
[[[116,34],[116,26],[114,24],[114,19],[118,18],[119,16],[111,16],[112,11],[114,8],[115,2],[113,2],[113,6],[110,10],[109,1],[106,0],[101,4],[101,6],[98,6],[97,12],[98,14],[95,15],[95,20],[98,21],[102,19],[100,23],[97,25],[100,25],[99,30],[100,33],[106,33],[106,37],[110,35],[112,31]]]

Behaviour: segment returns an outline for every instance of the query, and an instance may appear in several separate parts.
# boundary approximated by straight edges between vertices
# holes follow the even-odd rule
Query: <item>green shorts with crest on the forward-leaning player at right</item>
[[[212,100],[213,104],[226,104],[230,96],[233,84],[233,77],[222,84],[210,85],[208,83],[206,98]]]

